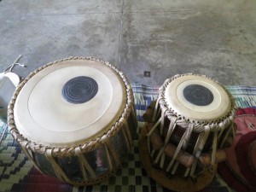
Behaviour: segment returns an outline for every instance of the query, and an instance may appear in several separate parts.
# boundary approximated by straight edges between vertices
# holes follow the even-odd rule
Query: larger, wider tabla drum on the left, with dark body
[[[40,172],[74,185],[100,183],[125,160],[136,135],[131,85],[106,61],[55,61],[17,87],[8,125]]]

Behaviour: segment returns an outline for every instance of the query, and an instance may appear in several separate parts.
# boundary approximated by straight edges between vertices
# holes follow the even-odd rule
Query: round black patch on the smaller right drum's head
[[[207,106],[212,103],[212,91],[200,84],[190,84],[183,90],[186,100],[197,106]]]

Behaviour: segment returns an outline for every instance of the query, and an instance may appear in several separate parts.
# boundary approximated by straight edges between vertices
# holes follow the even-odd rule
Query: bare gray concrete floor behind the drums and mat
[[[2,0],[0,35],[0,71],[23,55],[21,77],[78,55],[112,62],[131,83],[201,73],[256,86],[255,0]]]

